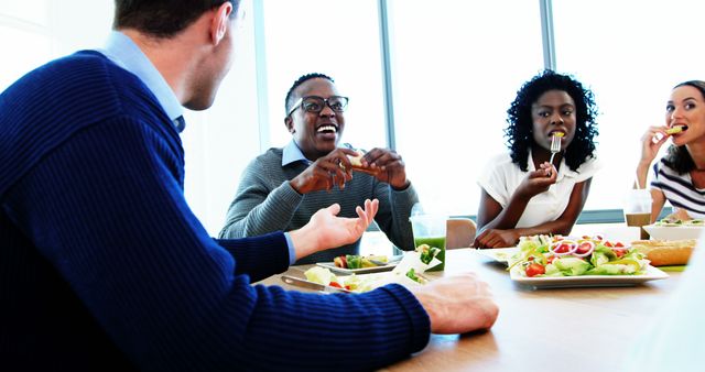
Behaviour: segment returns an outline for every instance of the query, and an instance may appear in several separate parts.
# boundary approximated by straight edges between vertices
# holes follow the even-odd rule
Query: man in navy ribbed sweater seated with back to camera
[[[370,370],[431,332],[491,327],[471,274],[410,292],[252,286],[359,238],[334,205],[289,233],[214,240],[183,195],[182,106],[208,108],[239,1],[116,0],[105,51],[0,95],[0,363],[28,371]]]

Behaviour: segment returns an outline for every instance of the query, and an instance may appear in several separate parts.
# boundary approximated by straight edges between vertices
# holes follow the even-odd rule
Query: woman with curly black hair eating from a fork
[[[507,110],[509,153],[488,162],[474,247],[516,245],[519,237],[567,234],[597,171],[593,92],[574,78],[544,70],[517,92]],[[554,133],[561,151],[551,160]]]

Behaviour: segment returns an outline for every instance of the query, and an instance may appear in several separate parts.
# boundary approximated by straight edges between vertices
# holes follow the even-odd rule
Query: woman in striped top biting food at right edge
[[[665,200],[676,209],[676,218],[705,218],[705,81],[676,85],[665,106],[665,124],[649,128],[642,136],[639,188],[646,186],[649,166],[669,139],[673,144],[653,165],[651,221]]]

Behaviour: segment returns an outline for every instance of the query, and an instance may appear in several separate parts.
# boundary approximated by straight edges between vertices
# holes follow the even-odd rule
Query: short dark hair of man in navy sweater
[[[112,28],[134,29],[156,37],[171,37],[195,22],[203,13],[232,3],[232,14],[240,0],[115,0]]]

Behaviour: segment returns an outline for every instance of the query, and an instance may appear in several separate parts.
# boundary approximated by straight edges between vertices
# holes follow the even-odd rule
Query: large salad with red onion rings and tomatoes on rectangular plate
[[[521,237],[509,269],[521,276],[644,275],[649,260],[603,237]]]

